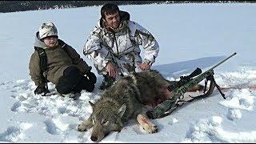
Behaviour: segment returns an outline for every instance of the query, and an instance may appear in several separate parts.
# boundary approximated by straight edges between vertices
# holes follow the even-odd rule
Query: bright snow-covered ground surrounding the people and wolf
[[[120,6],[131,20],[150,30],[160,45],[153,68],[167,79],[178,79],[197,67],[207,70],[230,54],[233,58],[214,69],[221,87],[209,98],[182,106],[165,118],[154,119],[158,133],[145,134],[131,120],[120,133],[102,142],[256,142],[256,4],[172,4]],[[78,100],[58,95],[34,95],[28,63],[34,34],[42,22],[52,21],[61,39],[82,58],[82,47],[100,17],[100,6],[0,14],[0,142],[92,142],[91,130],[77,126],[88,118],[88,101],[99,90],[82,91]],[[96,70],[93,69],[96,74]],[[97,87],[102,82],[98,76]],[[203,82],[202,82],[203,84]],[[54,85],[49,84],[50,90]]]

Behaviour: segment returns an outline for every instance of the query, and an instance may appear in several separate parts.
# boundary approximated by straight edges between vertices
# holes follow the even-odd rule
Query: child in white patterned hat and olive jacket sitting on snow
[[[34,48],[45,50],[47,64],[43,76],[55,84],[59,94],[72,97],[72,94],[82,90],[94,90],[96,76],[90,71],[91,66],[80,58],[74,48],[58,39],[58,31],[53,22],[43,23],[39,28]],[[46,83],[42,79],[40,58],[36,50],[30,57],[29,69],[31,79],[37,86],[34,94],[46,92]]]

